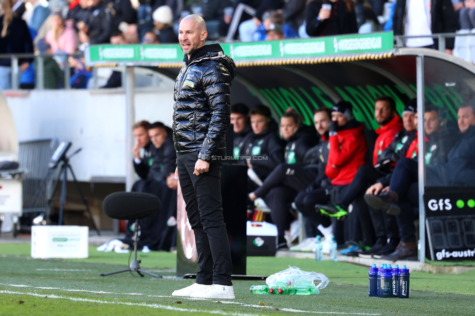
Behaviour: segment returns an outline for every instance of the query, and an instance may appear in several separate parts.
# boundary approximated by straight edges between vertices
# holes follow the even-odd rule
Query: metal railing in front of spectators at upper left
[[[69,57],[80,58],[83,57],[83,53],[74,53],[74,54],[34,54],[34,53],[18,53],[18,54],[0,54],[0,59],[10,59],[12,67],[12,89],[18,89],[19,76],[21,72],[19,71],[18,61],[20,59],[35,59],[37,61],[37,67],[35,69],[35,88],[44,89],[44,58],[45,57],[54,57],[60,56],[64,58],[63,72],[64,72],[64,87],[65,89],[71,89],[71,69],[69,66]]]

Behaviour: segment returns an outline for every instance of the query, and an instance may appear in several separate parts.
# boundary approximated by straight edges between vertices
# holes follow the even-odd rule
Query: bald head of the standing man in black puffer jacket
[[[204,46],[207,36],[206,23],[200,16],[192,14],[184,17],[180,22],[178,40],[183,53],[188,55],[188,58],[193,52]]]

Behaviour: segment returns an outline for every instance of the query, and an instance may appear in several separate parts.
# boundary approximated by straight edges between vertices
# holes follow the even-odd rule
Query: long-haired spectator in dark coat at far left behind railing
[[[33,53],[33,42],[26,22],[17,18],[12,11],[12,0],[0,1],[0,54]],[[30,60],[20,59],[21,71],[28,68]],[[10,58],[0,59],[0,89],[12,88]]]

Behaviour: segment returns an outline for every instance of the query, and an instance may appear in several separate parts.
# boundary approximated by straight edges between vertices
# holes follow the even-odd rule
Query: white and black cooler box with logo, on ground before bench
[[[261,225],[261,226],[253,226]],[[247,222],[247,255],[275,256],[277,227],[267,222]]]

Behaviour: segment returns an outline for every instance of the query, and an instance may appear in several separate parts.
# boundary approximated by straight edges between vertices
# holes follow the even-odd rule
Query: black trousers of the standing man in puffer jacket
[[[222,214],[222,160],[212,160],[209,171],[196,176],[193,172],[197,160],[197,152],[177,154],[180,187],[198,253],[196,282],[233,285],[233,263]]]

